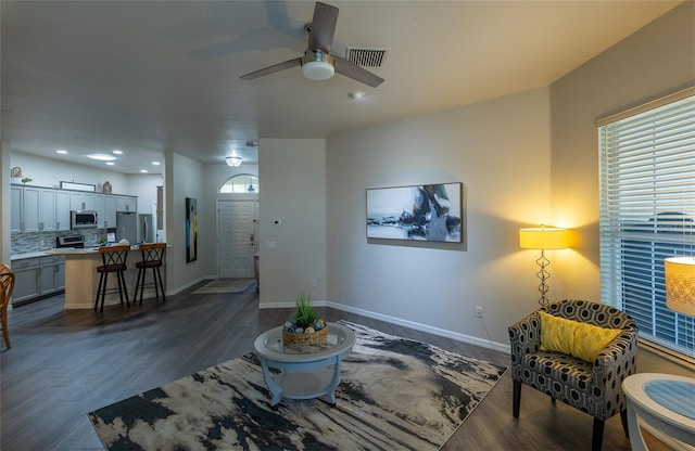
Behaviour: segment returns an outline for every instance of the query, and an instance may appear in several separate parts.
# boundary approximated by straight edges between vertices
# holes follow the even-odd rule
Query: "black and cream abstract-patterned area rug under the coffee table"
[[[271,408],[254,353],[88,414],[116,450],[437,450],[506,368],[359,324],[334,407]]]

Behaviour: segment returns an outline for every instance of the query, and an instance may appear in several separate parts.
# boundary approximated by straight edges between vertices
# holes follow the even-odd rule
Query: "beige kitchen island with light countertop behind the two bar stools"
[[[99,273],[97,267],[102,265],[101,255],[98,247],[85,248],[55,248],[45,252],[46,255],[61,255],[65,257],[65,309],[92,309],[99,286]],[[142,260],[140,249],[132,246],[128,253],[126,261],[128,270],[125,272],[128,299],[132,301],[135,296],[135,283],[138,278],[136,263]],[[162,271],[164,286],[166,286],[166,274]],[[152,271],[146,274],[146,282],[152,282]],[[109,278],[106,288],[117,288],[118,283],[115,274]],[[139,291],[138,291],[139,293]],[[146,286],[142,298],[155,296],[153,286]],[[139,296],[138,296],[139,299]],[[106,293],[105,306],[118,305],[121,298],[118,292]]]

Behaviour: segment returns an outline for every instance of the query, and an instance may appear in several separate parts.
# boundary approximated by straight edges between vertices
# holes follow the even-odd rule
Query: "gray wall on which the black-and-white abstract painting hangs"
[[[332,137],[327,155],[329,299],[508,346],[507,325],[538,306],[539,255],[519,248],[518,229],[551,219],[549,90]],[[464,245],[367,241],[367,188],[445,182],[465,185]]]

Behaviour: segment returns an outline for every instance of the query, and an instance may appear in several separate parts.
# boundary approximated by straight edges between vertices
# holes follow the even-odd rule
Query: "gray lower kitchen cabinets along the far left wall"
[[[13,305],[65,289],[65,256],[13,260],[11,267],[14,272]]]

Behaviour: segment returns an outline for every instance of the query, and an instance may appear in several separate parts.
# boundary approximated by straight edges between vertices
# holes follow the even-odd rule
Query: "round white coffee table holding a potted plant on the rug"
[[[328,337],[316,345],[293,346],[282,343],[282,326],[264,332],[253,347],[261,358],[263,378],[276,405],[285,398],[311,399],[326,395],[336,403],[340,384],[340,362],[355,344],[352,328],[328,323]],[[281,370],[275,377],[270,368]]]

